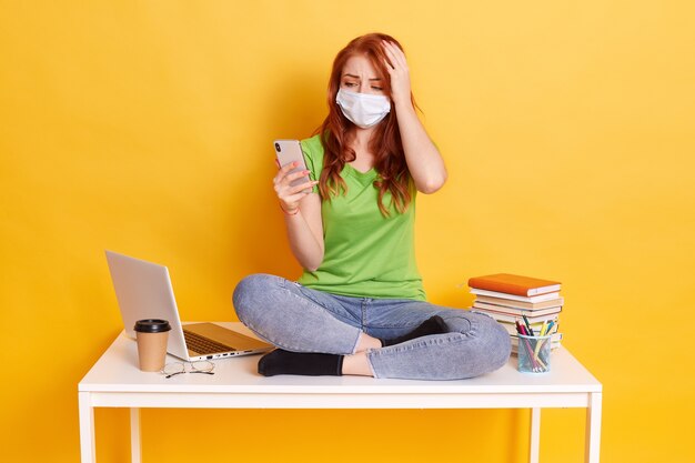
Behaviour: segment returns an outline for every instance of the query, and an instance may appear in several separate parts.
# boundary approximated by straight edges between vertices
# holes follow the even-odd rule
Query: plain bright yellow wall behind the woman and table
[[[298,275],[270,142],[311,134],[333,57],[374,30],[404,44],[450,172],[419,200],[430,299],[561,280],[563,343],[604,384],[602,461],[695,461],[692,2],[0,4],[3,461],[79,460],[77,384],[122,329],[104,249],[167,264],[189,320],[235,320],[245,274]],[[125,461],[127,412],[95,417],[100,461]],[[145,410],[143,456],[523,462],[527,420]],[[584,422],[544,412],[542,460],[583,461]]]

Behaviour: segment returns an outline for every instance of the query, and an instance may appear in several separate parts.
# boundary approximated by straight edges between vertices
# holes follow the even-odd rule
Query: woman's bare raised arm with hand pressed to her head
[[[422,193],[434,193],[446,182],[446,167],[411,101],[410,71],[405,56],[393,43],[384,42],[384,51],[391,60],[386,69],[391,74],[391,99],[401,130],[405,162],[415,188]]]

